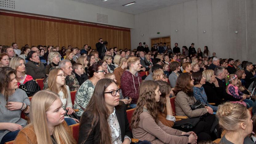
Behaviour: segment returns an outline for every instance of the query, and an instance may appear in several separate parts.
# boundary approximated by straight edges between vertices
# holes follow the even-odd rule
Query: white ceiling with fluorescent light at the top
[[[166,6],[172,6],[191,0],[74,0],[84,2],[95,6],[105,7],[112,10],[118,10],[129,14],[140,14],[150,10],[159,9]],[[122,6],[126,3],[136,2],[129,6]]]

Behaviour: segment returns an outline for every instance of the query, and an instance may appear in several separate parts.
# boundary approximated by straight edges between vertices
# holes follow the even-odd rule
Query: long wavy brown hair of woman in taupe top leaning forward
[[[154,121],[156,123],[158,122],[158,104],[155,98],[155,90],[157,89],[157,86],[158,83],[154,81],[144,81],[140,85],[139,99],[131,119],[132,129],[138,127],[140,114],[143,112],[143,106],[146,106],[148,113],[152,116]]]

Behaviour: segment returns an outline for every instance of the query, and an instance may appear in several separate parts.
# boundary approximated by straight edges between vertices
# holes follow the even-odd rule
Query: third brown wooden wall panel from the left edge
[[[45,45],[44,22],[30,19],[31,46]]]

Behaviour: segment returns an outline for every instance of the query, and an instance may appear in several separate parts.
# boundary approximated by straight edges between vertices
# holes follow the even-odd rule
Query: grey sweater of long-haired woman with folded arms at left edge
[[[14,94],[8,97],[8,102],[24,102],[27,105],[30,105],[30,100],[25,91],[21,89],[16,89]],[[1,117],[0,122],[10,122],[17,123],[22,127],[27,125],[27,121],[25,119],[20,118],[21,110],[8,110],[6,107],[6,98],[3,94],[0,93],[0,110]],[[9,130],[0,130],[0,142],[4,135],[9,133]]]

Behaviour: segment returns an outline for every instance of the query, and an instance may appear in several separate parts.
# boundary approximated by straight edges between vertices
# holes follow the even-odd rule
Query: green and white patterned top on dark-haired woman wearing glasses
[[[95,86],[92,84],[92,82],[89,79],[87,79],[77,90],[73,108],[79,110],[78,112],[76,112],[78,116],[82,116],[84,112],[82,108],[85,109],[88,105],[94,92],[94,88]]]

